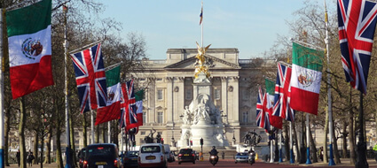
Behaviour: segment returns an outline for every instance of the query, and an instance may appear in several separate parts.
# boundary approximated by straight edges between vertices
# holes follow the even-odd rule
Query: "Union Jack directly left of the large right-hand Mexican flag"
[[[295,121],[295,111],[289,106],[291,73],[292,68],[278,63],[272,115]]]

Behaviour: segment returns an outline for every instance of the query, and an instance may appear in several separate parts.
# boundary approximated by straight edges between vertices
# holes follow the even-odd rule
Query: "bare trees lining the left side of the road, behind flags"
[[[22,7],[35,1],[27,0],[5,0],[0,2],[0,8],[12,10]],[[56,161],[59,167],[64,167],[62,161],[62,151],[60,136],[65,130],[65,76],[64,76],[64,47],[65,40],[64,27],[65,15],[62,6],[67,5],[67,41],[69,42],[68,50],[80,49],[82,46],[92,42],[102,43],[102,53],[105,65],[114,65],[122,63],[122,79],[130,79],[130,73],[143,69],[143,66],[137,60],[145,58],[145,41],[140,34],[130,33],[122,37],[122,25],[114,19],[101,19],[98,11],[104,9],[103,4],[94,0],[54,0],[52,2],[52,23],[51,23],[51,44],[52,44],[52,73],[55,85],[38,90],[32,94],[25,95],[19,99],[12,100],[12,90],[9,80],[9,60],[7,48],[6,28],[3,29],[4,39],[4,163],[9,165],[9,133],[11,129],[18,129],[21,167],[27,167],[26,164],[26,144],[25,134],[34,136],[35,162],[38,157],[43,158],[43,148],[41,156],[38,154],[38,147],[43,147],[46,142],[44,163],[51,163],[51,140],[55,137],[56,142]],[[6,23],[3,23],[6,27]],[[83,50],[83,49],[82,49]],[[67,81],[68,81],[68,108],[71,148],[75,151],[75,131],[74,128],[82,127],[84,134],[84,146],[87,145],[87,127],[89,126],[88,118],[90,115],[79,113],[79,101],[77,88],[75,84],[75,73],[72,63],[67,62]],[[117,136],[120,132],[117,129],[117,122],[112,122],[114,129],[113,140],[118,143]],[[101,128],[100,128],[101,127]],[[102,130],[102,140],[105,140],[105,125],[97,126],[96,142],[99,141],[99,132]],[[42,160],[42,159],[40,159]],[[41,167],[43,163],[41,162]]]

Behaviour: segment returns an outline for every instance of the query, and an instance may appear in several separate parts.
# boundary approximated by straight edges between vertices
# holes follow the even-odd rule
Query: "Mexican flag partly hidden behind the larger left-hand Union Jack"
[[[107,121],[121,118],[122,88],[120,82],[120,73],[120,65],[105,72],[107,87],[107,103],[106,107],[101,107],[97,109],[97,117],[95,123],[96,126]]]

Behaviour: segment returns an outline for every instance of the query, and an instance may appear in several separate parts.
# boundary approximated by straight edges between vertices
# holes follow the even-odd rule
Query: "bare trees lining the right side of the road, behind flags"
[[[332,103],[333,103],[333,119],[334,119],[334,161],[335,164],[341,162],[339,150],[342,149],[343,157],[350,157],[351,164],[355,164],[356,162],[356,137],[357,131],[360,129],[360,124],[357,122],[358,111],[359,107],[359,95],[360,92],[350,88],[350,84],[346,82],[345,75],[342,69],[342,55],[339,45],[339,36],[338,36],[338,19],[336,13],[336,2],[331,1],[329,11],[329,27],[328,27],[328,39],[330,43],[329,52],[329,65],[327,65],[326,57],[324,57],[324,70],[322,73],[322,82],[321,82],[321,90],[320,90],[320,99],[318,104],[318,116],[310,115],[310,126],[312,128],[322,128],[325,134],[329,133],[329,126],[328,126],[328,102],[327,102],[327,88],[328,86],[332,90]],[[271,48],[271,50],[266,51],[264,53],[265,56],[276,58],[278,61],[283,61],[287,63],[291,63],[292,57],[292,42],[291,38],[293,37],[296,41],[301,42],[308,42],[320,48],[326,49],[326,25],[325,25],[325,7],[323,4],[316,4],[310,1],[304,2],[304,7],[302,9],[295,11],[293,15],[295,19],[288,20],[287,26],[290,27],[291,36],[279,35],[275,45]],[[374,38],[376,39],[376,38]],[[374,42],[373,44],[373,54],[371,59],[371,66],[369,67],[369,77],[368,77],[368,85],[367,85],[367,95],[364,96],[363,106],[365,112],[365,125],[373,126],[374,130],[376,130],[376,123],[377,123],[377,111],[375,104],[377,103],[377,66],[375,66],[377,57],[377,44]],[[268,70],[265,70],[260,75],[259,83],[263,83],[264,76],[267,76],[271,79],[276,79],[276,65],[275,67],[271,67]],[[329,67],[329,71],[326,70],[326,67]],[[330,74],[331,76],[331,83],[327,82],[326,76]],[[252,90],[257,90],[255,86],[250,86]],[[255,94],[256,95],[256,94]],[[310,130],[305,130],[305,125],[303,121],[305,120],[304,115],[301,114],[302,112],[296,112],[295,123],[294,123],[294,133],[297,133],[297,126],[301,126],[300,132],[305,134],[305,132]],[[287,122],[285,122],[284,132],[286,134],[285,139],[289,140]],[[311,132],[310,132],[311,133]],[[377,133],[373,133],[377,134]],[[294,134],[294,139],[297,141],[297,134]],[[338,147],[337,141],[342,139],[342,147]],[[306,139],[304,138],[304,144],[306,144]],[[312,141],[313,137],[310,137],[311,144],[310,150],[312,152],[311,156],[314,156],[313,161],[317,161],[317,154],[316,154],[316,144]],[[324,144],[320,146],[327,147],[328,146],[328,139],[325,136]],[[371,141],[371,140],[369,140]],[[288,147],[288,142],[286,142],[286,147]],[[306,147],[306,145],[303,147]],[[295,143],[295,148],[301,150],[298,147],[298,144]],[[347,156],[347,146],[350,147],[350,156]],[[287,148],[286,148],[287,149]],[[306,148],[304,148],[306,151]],[[296,162],[305,163],[306,157],[302,156],[301,154],[305,154],[304,152],[298,152],[298,160]],[[286,153],[288,154],[289,151],[287,150]],[[301,158],[301,159],[300,159]],[[287,155],[287,160],[289,160],[289,155]],[[324,162],[328,162],[327,158],[327,148],[324,148]]]

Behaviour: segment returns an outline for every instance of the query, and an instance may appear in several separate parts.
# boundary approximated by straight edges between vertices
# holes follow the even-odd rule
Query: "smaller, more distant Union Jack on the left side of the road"
[[[137,127],[137,107],[134,92],[134,80],[129,80],[122,84],[122,101],[121,101],[121,126],[126,130]]]

